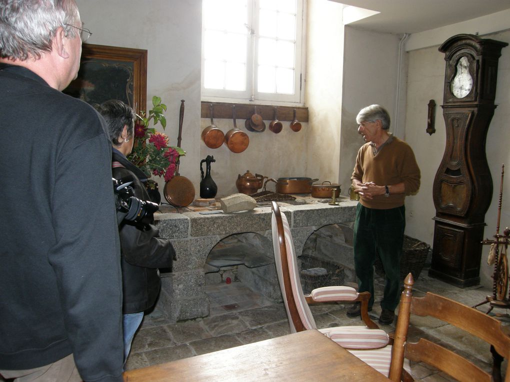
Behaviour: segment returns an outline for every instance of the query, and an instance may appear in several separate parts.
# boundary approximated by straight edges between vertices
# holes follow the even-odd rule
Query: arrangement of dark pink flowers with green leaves
[[[186,151],[180,147],[169,146],[168,136],[157,132],[154,127],[149,128],[150,120],[156,125],[161,123],[163,129],[166,127],[166,105],[161,103],[161,98],[152,97],[152,108],[148,113],[140,112],[135,121],[135,142],[133,150],[127,157],[136,167],[142,170],[147,176],[164,176],[169,181],[175,175],[177,163],[181,155]]]

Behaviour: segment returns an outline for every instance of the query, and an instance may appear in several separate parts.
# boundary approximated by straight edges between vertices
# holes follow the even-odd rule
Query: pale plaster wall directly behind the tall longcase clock
[[[456,30],[452,35],[466,33]],[[451,36],[450,36],[451,37]],[[510,42],[510,31],[484,35],[483,38]],[[413,147],[418,165],[421,169],[422,184],[418,196],[406,198],[407,226],[406,233],[429,244],[433,242],[436,210],[432,200],[432,185],[443,157],[446,132],[442,114],[443,84],[445,61],[439,46],[417,49],[409,52],[409,77],[407,80],[407,107],[405,134],[406,141]],[[498,83],[496,90],[496,108],[487,134],[487,160],[493,179],[493,197],[485,216],[487,227],[484,237],[492,238],[496,233],[498,195],[500,187],[501,164],[510,168],[510,47],[501,51],[498,67]],[[430,99],[437,103],[436,133],[429,136],[425,132],[427,121],[427,104]],[[508,173],[508,170],[507,170]],[[506,196],[510,189],[508,176],[504,180],[503,191]],[[510,226],[510,200],[503,196],[500,233]],[[487,265],[488,246],[484,246],[480,265],[481,284],[492,286],[493,267]]]

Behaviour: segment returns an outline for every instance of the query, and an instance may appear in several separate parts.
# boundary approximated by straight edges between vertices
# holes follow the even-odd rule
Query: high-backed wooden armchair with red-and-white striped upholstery
[[[358,293],[347,286],[329,286],[304,295],[301,289],[292,234],[285,214],[272,202],[272,233],[278,280],[292,333],[317,329],[308,304],[324,302],[361,303],[361,317],[366,326],[337,326],[319,329],[321,333],[348,349],[356,357],[388,376],[391,345],[388,334],[368,316],[369,292]]]

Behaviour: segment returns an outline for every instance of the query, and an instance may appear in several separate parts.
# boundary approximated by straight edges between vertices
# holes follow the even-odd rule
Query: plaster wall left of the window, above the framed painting
[[[185,102],[180,173],[198,193],[200,173],[200,0],[77,0],[89,43],[147,49],[147,104],[160,96],[168,107],[165,133],[177,145],[179,108]],[[161,129],[161,125],[157,125]],[[164,180],[159,180],[160,190]]]

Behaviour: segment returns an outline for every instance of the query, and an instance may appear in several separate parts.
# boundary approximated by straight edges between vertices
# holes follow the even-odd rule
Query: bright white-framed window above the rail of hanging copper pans
[[[203,0],[202,100],[302,104],[304,0]]]

